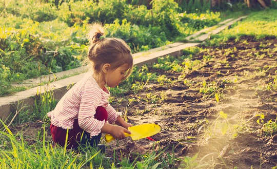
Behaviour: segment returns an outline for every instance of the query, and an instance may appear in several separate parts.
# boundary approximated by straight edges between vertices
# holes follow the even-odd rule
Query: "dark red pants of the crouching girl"
[[[107,121],[108,114],[104,107],[98,106],[94,118],[100,121]],[[67,129],[50,125],[50,131],[53,141],[61,146],[65,145]],[[83,135],[83,136],[82,136]],[[78,119],[74,119],[73,128],[68,130],[67,149],[76,148],[78,145],[90,144],[95,146],[101,139],[101,133],[98,136],[90,138],[90,134],[82,129],[78,124]]]

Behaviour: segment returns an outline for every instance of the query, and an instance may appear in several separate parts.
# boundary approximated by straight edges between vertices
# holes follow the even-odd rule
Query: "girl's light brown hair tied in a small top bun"
[[[124,80],[130,76],[133,69],[133,57],[130,47],[122,39],[104,37],[104,28],[101,24],[95,23],[89,33],[89,40],[88,59],[92,62],[95,74],[99,75],[102,66],[106,63],[111,65],[112,70],[127,63],[129,69]]]

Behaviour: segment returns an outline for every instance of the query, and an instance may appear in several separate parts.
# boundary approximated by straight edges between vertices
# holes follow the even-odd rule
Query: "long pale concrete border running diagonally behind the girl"
[[[211,33],[213,33],[213,34],[218,33],[221,30],[229,27],[236,21],[240,21],[245,17],[246,16],[243,16],[236,20],[233,20],[232,22],[229,22],[229,23],[221,26],[220,28],[212,30],[208,34],[204,34],[205,36],[202,35],[197,38],[204,41],[205,39],[208,38],[208,35],[210,35]],[[224,21],[224,23],[226,23],[226,21]],[[199,31],[199,32],[201,33],[203,31]],[[196,32],[195,33],[196,35],[194,35],[193,37],[196,37],[197,35],[199,35],[200,34],[199,32]],[[166,55],[173,55],[175,57],[179,57],[183,54],[183,50],[185,48],[193,47],[193,46],[196,46],[199,44],[200,43],[173,43],[173,44],[170,44],[170,45],[167,45],[164,47],[151,49],[146,52],[135,53],[135,54],[133,54],[134,65],[137,65],[140,67],[144,64],[152,64],[156,61],[157,58],[164,57]],[[161,49],[165,49],[165,50],[161,50]],[[140,57],[138,57],[138,56],[140,56]],[[76,69],[72,69],[72,70],[63,71],[60,74],[62,74],[62,76],[65,76],[69,72],[75,71],[76,73],[78,73],[80,71],[81,72],[87,71],[87,68],[88,67],[76,68]],[[58,80],[58,81],[52,82],[52,83],[47,83],[43,86],[37,86],[37,87],[33,87],[33,88],[30,88],[30,89],[27,89],[24,91],[17,92],[12,96],[1,97],[0,98],[0,110],[1,110],[0,118],[3,120],[8,119],[9,116],[12,115],[13,112],[15,112],[17,108],[20,109],[23,105],[26,106],[27,109],[31,108],[34,105],[35,99],[37,98],[37,93],[44,93],[45,91],[52,90],[54,99],[60,100],[64,96],[64,94],[67,92],[68,86],[80,81],[83,78],[83,76],[84,76],[84,73],[77,74],[76,76]],[[49,78],[50,78],[50,76],[46,80],[49,81]],[[38,78],[36,78],[36,79],[38,79]]]

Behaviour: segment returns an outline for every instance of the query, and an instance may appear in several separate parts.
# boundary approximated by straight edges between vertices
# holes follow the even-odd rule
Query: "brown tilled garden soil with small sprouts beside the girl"
[[[162,130],[151,137],[155,142],[130,137],[114,140],[107,144],[107,156],[115,153],[132,160],[163,149],[164,159],[168,155],[175,158],[169,168],[184,167],[185,156],[195,154],[199,164],[207,164],[202,168],[276,166],[277,133],[262,128],[276,119],[277,92],[270,88],[277,70],[276,45],[274,37],[257,41],[245,36],[218,47],[200,46],[206,50],[194,54],[193,60],[207,55],[213,59],[200,69],[188,71],[183,76],[186,82],[180,80],[179,72],[159,70],[168,79],[179,81],[149,83],[138,93],[129,91],[116,98],[111,104],[125,112],[128,122],[156,123]],[[200,92],[204,81],[216,87],[219,102],[212,93]],[[38,126],[29,124],[24,130],[32,138]]]

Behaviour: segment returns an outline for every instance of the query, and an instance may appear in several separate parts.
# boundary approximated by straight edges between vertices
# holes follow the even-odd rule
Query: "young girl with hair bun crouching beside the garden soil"
[[[48,113],[55,143],[65,145],[68,129],[67,148],[97,145],[102,133],[117,140],[124,139],[125,132],[131,134],[127,128],[132,125],[108,103],[110,93],[105,85],[115,87],[125,80],[132,71],[133,58],[123,40],[104,37],[103,33],[100,24],[94,24],[90,32],[88,59],[93,72],[76,83]]]

